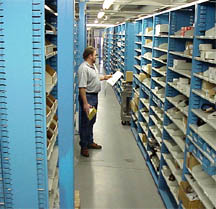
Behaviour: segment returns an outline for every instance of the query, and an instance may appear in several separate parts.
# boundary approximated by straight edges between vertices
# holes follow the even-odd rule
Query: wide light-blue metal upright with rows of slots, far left
[[[7,150],[8,174],[4,176],[3,181],[8,181],[8,192],[5,192],[5,208],[43,208],[48,207],[47,191],[47,164],[46,161],[46,133],[43,132],[45,120],[45,91],[43,91],[45,74],[44,71],[44,52],[41,50],[44,44],[42,36],[44,19],[43,0],[34,1],[37,8],[37,17],[33,13],[33,2],[22,0],[14,2],[8,0],[3,2],[3,11],[5,22],[4,42],[5,51],[4,68],[6,78],[7,113],[6,123],[9,149]],[[39,4],[36,4],[39,3]],[[34,22],[37,19],[37,25]],[[34,26],[33,26],[34,25]],[[39,30],[36,29],[39,27]],[[35,29],[35,30],[33,30]],[[40,71],[40,86],[35,86],[34,63],[35,51],[34,33],[37,34],[37,40],[41,44],[38,46],[37,60],[38,71]],[[16,35],[14,35],[16,34]],[[2,67],[2,64],[1,64]],[[36,92],[37,88],[37,92]],[[1,92],[2,93],[2,92]],[[35,94],[40,94],[40,115],[37,115]],[[40,123],[40,139],[36,128],[36,118]],[[1,138],[4,141],[4,139]],[[40,145],[38,145],[38,141]],[[40,146],[40,151],[38,150]],[[4,148],[6,151],[6,147]],[[3,152],[3,150],[1,150]],[[40,153],[39,153],[40,152]],[[38,157],[40,154],[40,159]],[[5,159],[6,160],[6,159]],[[3,162],[4,163],[4,162]],[[40,174],[38,173],[40,167]],[[10,181],[11,180],[11,181]],[[39,197],[39,184],[42,191]],[[10,197],[7,197],[12,191],[11,205],[8,205]],[[43,201],[41,201],[41,198]],[[41,204],[41,205],[40,205]]]

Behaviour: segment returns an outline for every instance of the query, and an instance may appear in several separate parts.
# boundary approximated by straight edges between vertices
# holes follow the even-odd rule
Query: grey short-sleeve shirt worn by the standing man
[[[101,90],[99,74],[94,66],[83,62],[78,70],[79,88],[86,88],[87,93],[98,93]]]

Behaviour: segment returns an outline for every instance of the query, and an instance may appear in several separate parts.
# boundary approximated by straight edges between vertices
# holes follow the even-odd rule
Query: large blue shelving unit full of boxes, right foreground
[[[131,130],[158,192],[166,208],[187,208],[181,198],[187,184],[197,208],[214,208],[216,2],[138,19],[133,37]]]

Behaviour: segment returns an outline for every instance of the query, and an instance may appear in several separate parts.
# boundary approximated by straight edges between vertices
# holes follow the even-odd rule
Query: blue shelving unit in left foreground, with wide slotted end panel
[[[74,1],[0,9],[0,208],[73,208]]]

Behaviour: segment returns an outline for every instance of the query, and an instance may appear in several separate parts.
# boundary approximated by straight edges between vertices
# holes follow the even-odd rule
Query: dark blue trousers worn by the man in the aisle
[[[98,106],[98,94],[86,94],[87,101],[91,106],[97,109]],[[87,148],[89,144],[93,143],[93,126],[96,122],[96,115],[92,120],[89,120],[86,112],[83,109],[83,101],[79,97],[80,103],[80,146],[81,148]]]

